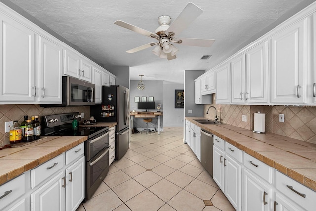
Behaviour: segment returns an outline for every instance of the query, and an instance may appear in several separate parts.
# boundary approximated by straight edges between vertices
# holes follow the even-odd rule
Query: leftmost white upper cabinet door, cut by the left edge
[[[34,102],[35,34],[23,24],[0,14],[0,101]]]

